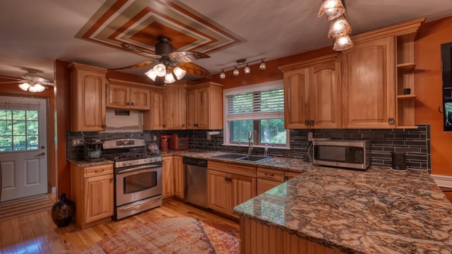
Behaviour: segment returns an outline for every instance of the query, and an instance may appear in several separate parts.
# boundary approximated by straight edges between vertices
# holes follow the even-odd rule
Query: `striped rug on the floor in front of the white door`
[[[52,202],[46,194],[0,202],[0,222],[50,210],[51,208]]]

